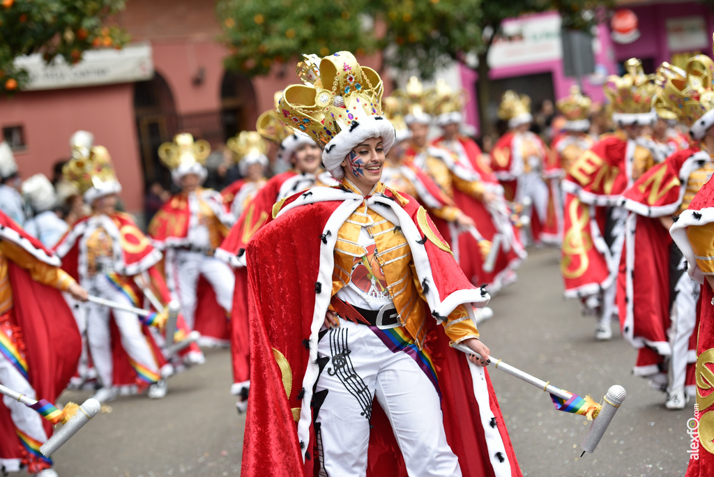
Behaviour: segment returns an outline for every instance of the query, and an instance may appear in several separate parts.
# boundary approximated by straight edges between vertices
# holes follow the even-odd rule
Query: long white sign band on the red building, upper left
[[[148,43],[132,44],[121,50],[86,51],[84,59],[76,65],[68,65],[62,58],[47,65],[40,54],[33,54],[19,57],[15,66],[29,73],[29,83],[24,87],[29,91],[131,83],[154,77]]]

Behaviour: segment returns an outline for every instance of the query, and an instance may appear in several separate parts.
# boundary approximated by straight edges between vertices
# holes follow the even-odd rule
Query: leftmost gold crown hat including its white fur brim
[[[72,184],[87,204],[96,199],[119,194],[121,184],[116,180],[111,156],[104,146],[91,146],[86,144],[75,147],[72,144],[72,157],[62,168],[64,180]]]

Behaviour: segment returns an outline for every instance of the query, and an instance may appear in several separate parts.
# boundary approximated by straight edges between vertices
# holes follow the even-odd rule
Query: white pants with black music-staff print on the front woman
[[[343,319],[322,336],[318,356],[330,360],[313,397],[321,399],[327,391],[316,416],[321,476],[366,474],[374,396],[389,418],[409,476],[461,476],[446,442],[436,388],[411,356],[391,351],[368,326]]]

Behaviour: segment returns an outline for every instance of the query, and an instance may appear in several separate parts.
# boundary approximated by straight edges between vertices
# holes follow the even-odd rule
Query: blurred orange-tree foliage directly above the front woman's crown
[[[370,9],[370,0],[218,1],[226,67],[256,76],[303,53],[371,53],[377,42],[363,16]]]

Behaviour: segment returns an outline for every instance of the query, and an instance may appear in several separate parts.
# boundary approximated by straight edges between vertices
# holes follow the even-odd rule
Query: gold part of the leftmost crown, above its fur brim
[[[81,151],[85,151],[84,154]],[[101,189],[102,184],[116,182],[116,173],[111,164],[111,156],[104,146],[88,149],[72,148],[72,158],[62,168],[64,179],[84,194],[92,187]]]

